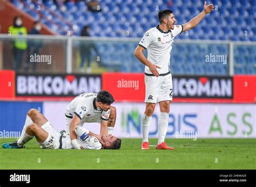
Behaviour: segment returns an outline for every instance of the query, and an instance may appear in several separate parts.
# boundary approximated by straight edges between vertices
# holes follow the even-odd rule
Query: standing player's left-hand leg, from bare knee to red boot
[[[146,110],[142,117],[142,149],[149,149],[149,128],[156,103],[146,103]]]

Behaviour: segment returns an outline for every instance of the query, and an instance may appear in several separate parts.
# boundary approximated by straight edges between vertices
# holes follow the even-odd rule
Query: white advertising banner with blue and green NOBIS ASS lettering
[[[57,131],[66,129],[68,102],[44,102],[44,115]],[[113,134],[120,138],[142,138],[144,103],[114,103],[117,120]],[[152,116],[150,138],[158,137],[159,106]],[[166,138],[256,138],[255,104],[172,103]],[[84,127],[99,133],[100,125]]]

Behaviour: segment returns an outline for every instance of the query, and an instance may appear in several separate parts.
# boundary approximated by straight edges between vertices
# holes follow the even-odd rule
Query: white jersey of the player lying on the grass
[[[77,137],[77,142],[83,146],[85,149],[101,149],[102,143],[95,137],[88,135],[87,138],[82,141],[79,137]],[[64,133],[62,138],[62,149],[73,149],[70,134]]]

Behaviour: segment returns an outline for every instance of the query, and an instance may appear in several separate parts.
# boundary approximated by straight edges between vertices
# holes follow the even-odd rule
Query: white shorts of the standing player
[[[165,76],[145,75],[146,97],[145,103],[157,103],[172,100],[172,74]]]

